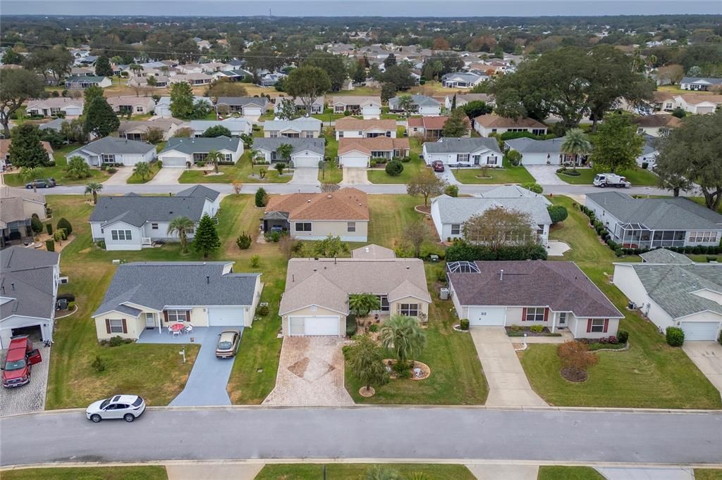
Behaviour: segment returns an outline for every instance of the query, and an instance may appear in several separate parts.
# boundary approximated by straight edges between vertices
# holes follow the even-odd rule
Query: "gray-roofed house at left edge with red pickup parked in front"
[[[11,246],[0,251],[0,265],[0,350],[31,329],[52,340],[60,254]]]

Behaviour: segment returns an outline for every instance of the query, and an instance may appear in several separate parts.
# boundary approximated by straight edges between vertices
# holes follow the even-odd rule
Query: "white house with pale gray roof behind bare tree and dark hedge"
[[[542,245],[549,243],[549,227],[552,218],[547,210],[549,201],[534,197],[449,197],[441,195],[431,200],[431,219],[441,241],[461,239],[464,223],[474,215],[483,215],[492,208],[504,208],[526,213],[530,218],[529,236],[520,241],[534,241]],[[482,241],[480,241],[482,243]]]

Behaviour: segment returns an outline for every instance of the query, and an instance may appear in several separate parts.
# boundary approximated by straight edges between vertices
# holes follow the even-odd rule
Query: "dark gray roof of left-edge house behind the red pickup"
[[[53,267],[60,254],[11,246],[0,251],[0,319],[12,315],[50,319],[55,308]],[[13,285],[14,284],[14,289]]]

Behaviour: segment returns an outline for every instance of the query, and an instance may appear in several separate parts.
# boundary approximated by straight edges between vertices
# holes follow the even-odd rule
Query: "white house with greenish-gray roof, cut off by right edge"
[[[719,338],[722,264],[692,262],[666,249],[643,254],[644,263],[614,263],[614,285],[658,326],[684,330],[684,341]]]

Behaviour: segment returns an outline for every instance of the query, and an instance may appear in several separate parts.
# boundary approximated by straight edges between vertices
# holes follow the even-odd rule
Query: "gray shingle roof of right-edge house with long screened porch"
[[[683,197],[632,198],[622,192],[586,196],[623,223],[651,230],[722,230],[722,215]]]

